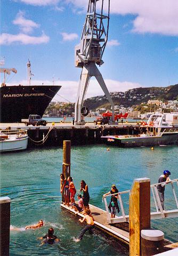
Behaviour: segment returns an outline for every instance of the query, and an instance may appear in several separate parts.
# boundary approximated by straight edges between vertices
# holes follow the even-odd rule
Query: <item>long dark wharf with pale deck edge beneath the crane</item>
[[[36,145],[47,136],[43,146],[62,146],[63,140],[71,140],[72,145],[87,145],[102,143],[101,136],[105,135],[128,135],[139,134],[140,127],[136,123],[118,123],[114,125],[94,125],[86,123],[85,125],[72,125],[71,123],[55,123],[53,129],[49,132],[53,123],[47,123],[46,126],[25,126],[25,123],[1,123],[0,129],[26,129],[28,132],[28,147]],[[49,133],[48,133],[49,132]]]

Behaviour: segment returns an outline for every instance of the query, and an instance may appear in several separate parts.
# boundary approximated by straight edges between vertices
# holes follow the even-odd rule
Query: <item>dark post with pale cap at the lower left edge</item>
[[[9,256],[11,199],[0,197],[0,255]]]

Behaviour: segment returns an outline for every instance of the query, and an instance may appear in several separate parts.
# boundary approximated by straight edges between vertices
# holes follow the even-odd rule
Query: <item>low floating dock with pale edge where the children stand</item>
[[[129,233],[127,231],[124,231],[122,229],[116,228],[114,226],[111,226],[107,222],[107,212],[94,206],[90,205],[90,210],[92,213],[92,216],[94,218],[94,224],[97,228],[101,229],[105,233],[119,239],[119,241],[129,245]],[[71,209],[70,207],[61,204],[61,207],[67,211],[69,211],[72,214],[78,215],[80,217],[84,217],[83,214],[77,213]]]

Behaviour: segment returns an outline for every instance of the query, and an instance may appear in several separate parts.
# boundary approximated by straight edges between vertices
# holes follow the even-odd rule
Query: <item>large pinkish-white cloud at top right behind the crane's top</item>
[[[86,9],[87,0],[67,0],[79,9]],[[98,2],[99,3],[99,2]],[[108,1],[104,7],[107,9]],[[134,33],[152,33],[168,36],[178,35],[178,1],[177,0],[112,0],[110,13],[134,14]],[[112,19],[112,15],[111,15]]]

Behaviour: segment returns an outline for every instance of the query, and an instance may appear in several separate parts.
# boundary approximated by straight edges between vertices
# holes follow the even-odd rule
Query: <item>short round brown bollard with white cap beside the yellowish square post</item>
[[[157,229],[141,230],[142,256],[164,252],[164,233]]]

